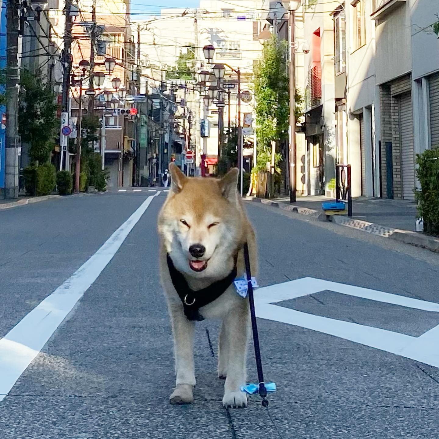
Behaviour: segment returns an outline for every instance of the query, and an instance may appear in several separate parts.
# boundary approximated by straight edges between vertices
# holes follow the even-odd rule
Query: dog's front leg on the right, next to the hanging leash
[[[246,380],[246,359],[248,343],[248,301],[239,306],[225,318],[223,325],[227,336],[227,378],[224,384],[224,407],[246,407],[247,396],[241,392]]]

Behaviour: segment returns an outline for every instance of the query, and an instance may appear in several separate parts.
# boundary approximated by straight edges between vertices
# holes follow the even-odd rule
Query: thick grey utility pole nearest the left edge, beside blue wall
[[[7,0],[5,198],[18,198],[18,8]]]

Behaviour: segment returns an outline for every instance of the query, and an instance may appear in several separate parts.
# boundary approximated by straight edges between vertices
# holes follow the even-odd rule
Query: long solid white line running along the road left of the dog
[[[0,401],[96,281],[159,193],[149,196],[90,259],[0,339]]]

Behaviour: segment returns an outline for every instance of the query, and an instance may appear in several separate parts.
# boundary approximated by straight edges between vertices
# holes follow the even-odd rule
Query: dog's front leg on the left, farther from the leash
[[[176,388],[169,398],[171,404],[189,404],[194,401],[192,389],[195,385],[194,330],[195,322],[187,320],[183,306],[171,304],[175,349]]]

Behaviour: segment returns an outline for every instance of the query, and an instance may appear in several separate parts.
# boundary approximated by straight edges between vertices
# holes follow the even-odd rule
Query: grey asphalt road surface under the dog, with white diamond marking
[[[0,337],[6,339],[93,256],[148,195],[70,197],[0,211]],[[393,352],[400,340],[414,345],[424,334],[438,334],[433,328],[439,312],[431,309],[439,302],[439,256],[252,203],[247,209],[259,243],[258,298],[279,288],[295,294],[277,302],[279,313],[258,319],[266,380],[276,382],[277,392],[268,409],[256,396],[247,409],[223,409],[223,382],[216,378],[218,324],[202,322],[195,402],[170,406],[172,336],[155,231],[165,195],[152,199],[0,401],[1,439],[439,436],[437,349],[425,342],[402,347],[401,355]],[[321,290],[313,290],[313,279],[284,284],[303,278],[332,283]],[[264,289],[274,284],[281,286]],[[259,313],[271,306],[258,303]],[[423,304],[431,309],[420,309]],[[291,322],[281,314],[286,320],[292,315]],[[339,324],[340,334],[331,335]],[[252,349],[248,378],[256,380]]]

